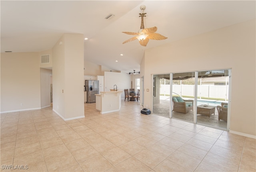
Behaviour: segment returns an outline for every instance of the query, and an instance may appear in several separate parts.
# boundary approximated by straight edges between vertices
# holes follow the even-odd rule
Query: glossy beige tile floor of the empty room
[[[2,113],[1,171],[256,171],[256,140],[159,115],[138,102],[62,120],[52,108]],[[6,167],[28,169],[4,169]]]

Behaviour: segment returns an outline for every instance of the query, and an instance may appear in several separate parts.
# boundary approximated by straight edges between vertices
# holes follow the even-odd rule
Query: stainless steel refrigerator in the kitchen
[[[87,91],[87,103],[95,103],[95,94],[99,94],[99,81],[85,80],[85,90]]]

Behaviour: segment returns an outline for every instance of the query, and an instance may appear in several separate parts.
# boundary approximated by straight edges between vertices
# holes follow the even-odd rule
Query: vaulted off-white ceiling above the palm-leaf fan
[[[255,19],[255,1],[80,0],[0,1],[1,52],[51,49],[63,33],[82,33],[84,58],[122,72],[140,70],[144,50],[165,43]],[[145,5],[145,28],[158,27],[168,39],[122,44],[140,29],[140,6]],[[105,19],[108,14],[114,14]],[[123,56],[120,56],[123,54]],[[115,62],[115,61],[118,62]]]

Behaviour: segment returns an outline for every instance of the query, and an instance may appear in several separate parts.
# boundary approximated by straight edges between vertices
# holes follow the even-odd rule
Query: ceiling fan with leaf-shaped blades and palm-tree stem
[[[140,30],[138,31],[138,33],[122,32],[122,33],[126,33],[128,35],[138,35],[138,36],[132,37],[132,38],[124,41],[123,44],[138,39],[140,45],[146,47],[149,39],[154,39],[154,40],[167,39],[167,37],[160,35],[159,33],[155,33],[157,31],[156,26],[144,29],[144,17],[146,17],[145,16],[146,13],[144,13],[145,8],[146,8],[146,6],[144,6],[144,5],[140,6],[140,10],[142,10],[142,13],[140,13],[140,16],[139,16],[139,17],[141,17],[141,24],[140,24]]]

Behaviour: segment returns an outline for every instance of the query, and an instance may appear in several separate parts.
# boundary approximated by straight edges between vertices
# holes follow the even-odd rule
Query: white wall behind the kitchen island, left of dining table
[[[105,92],[110,91],[110,89],[114,89],[114,85],[117,85],[118,90],[131,88],[132,80],[129,74],[119,72],[105,72],[104,76]],[[122,92],[121,98],[124,99],[124,92]]]

